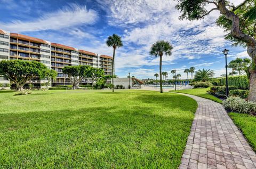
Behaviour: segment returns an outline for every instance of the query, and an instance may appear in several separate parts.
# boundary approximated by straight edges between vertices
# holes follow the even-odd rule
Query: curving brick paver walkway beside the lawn
[[[179,168],[256,168],[255,152],[221,104],[188,96],[198,108]]]

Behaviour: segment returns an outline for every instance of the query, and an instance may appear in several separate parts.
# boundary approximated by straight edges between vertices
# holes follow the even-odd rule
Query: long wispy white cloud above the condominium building
[[[59,30],[71,26],[91,25],[97,18],[98,13],[96,11],[87,10],[86,6],[70,4],[57,12],[45,13],[34,21],[14,20],[8,23],[0,22],[0,25],[2,25],[2,29],[15,32]]]

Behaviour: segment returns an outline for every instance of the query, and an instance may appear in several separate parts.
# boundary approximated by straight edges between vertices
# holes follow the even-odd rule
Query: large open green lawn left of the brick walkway
[[[177,168],[197,108],[154,91],[13,94],[0,92],[1,168]]]

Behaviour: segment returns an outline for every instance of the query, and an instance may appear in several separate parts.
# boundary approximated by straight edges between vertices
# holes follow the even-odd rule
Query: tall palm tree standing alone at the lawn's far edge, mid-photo
[[[157,41],[151,46],[150,54],[155,55],[156,57],[160,57],[159,62],[159,75],[160,75],[160,92],[163,93],[163,85],[162,85],[162,57],[163,55],[171,55],[172,54],[172,45],[166,41]]]

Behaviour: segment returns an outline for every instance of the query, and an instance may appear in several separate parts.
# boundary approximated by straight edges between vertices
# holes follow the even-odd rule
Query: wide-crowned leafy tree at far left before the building
[[[0,62],[0,75],[15,83],[17,91],[22,91],[28,81],[41,76],[45,69],[47,67],[37,61],[2,60]]]

